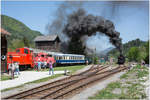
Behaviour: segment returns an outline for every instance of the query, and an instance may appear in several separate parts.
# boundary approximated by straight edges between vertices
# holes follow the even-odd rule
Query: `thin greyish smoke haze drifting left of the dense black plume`
[[[59,3],[59,2],[58,2]],[[64,1],[54,14],[54,20],[50,20],[50,22],[46,25],[46,29],[48,35],[57,34],[61,40],[61,52],[68,53],[68,40],[69,38],[62,34],[64,29],[64,25],[67,22],[67,16],[71,14],[71,12],[76,11],[78,8],[81,8],[83,5],[83,1]]]

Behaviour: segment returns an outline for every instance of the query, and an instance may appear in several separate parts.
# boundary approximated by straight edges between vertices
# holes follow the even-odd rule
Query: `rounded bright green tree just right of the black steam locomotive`
[[[138,47],[131,47],[127,57],[129,59],[129,61],[140,61],[141,57],[140,57],[140,50]]]

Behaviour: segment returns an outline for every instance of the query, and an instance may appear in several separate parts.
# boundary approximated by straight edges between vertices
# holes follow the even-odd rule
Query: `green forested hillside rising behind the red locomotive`
[[[11,33],[11,36],[8,37],[10,51],[24,46],[34,47],[33,39],[42,35],[40,32],[31,30],[22,22],[6,15],[1,16],[1,26]]]

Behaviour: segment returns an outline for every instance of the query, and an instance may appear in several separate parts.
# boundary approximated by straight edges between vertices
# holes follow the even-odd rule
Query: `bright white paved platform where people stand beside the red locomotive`
[[[21,74],[18,76],[18,78],[15,78],[13,80],[6,80],[1,81],[1,88],[0,90],[11,88],[15,86],[19,86],[28,82],[32,82],[38,79],[42,79],[45,77],[49,77],[49,72],[36,72],[36,71],[22,71]],[[64,71],[54,71],[54,74],[62,74]]]

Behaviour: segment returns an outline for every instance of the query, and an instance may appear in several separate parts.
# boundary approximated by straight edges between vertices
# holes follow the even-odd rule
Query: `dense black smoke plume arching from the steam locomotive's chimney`
[[[64,27],[65,33],[70,39],[76,37],[77,41],[85,35],[92,36],[99,32],[109,37],[109,41],[122,54],[122,43],[120,33],[115,30],[113,22],[101,16],[86,14],[84,9],[78,9],[68,16],[67,24]]]

